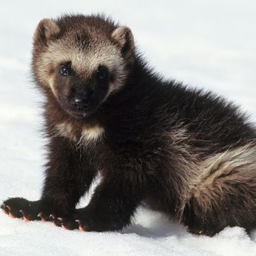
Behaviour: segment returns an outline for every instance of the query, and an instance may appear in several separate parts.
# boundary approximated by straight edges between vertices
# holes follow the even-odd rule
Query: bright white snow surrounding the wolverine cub
[[[30,79],[32,36],[41,18],[60,13],[113,16],[132,28],[152,67],[240,104],[256,122],[256,4],[215,1],[3,1],[0,10],[0,201],[36,200],[43,180],[41,95]],[[89,198],[84,198],[84,205]],[[195,236],[140,208],[121,232],[79,232],[0,212],[0,255],[256,255],[256,231],[227,227]]]

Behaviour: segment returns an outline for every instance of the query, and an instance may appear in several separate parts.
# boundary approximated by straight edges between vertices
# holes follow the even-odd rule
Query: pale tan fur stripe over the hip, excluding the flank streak
[[[247,193],[256,193],[256,147],[252,144],[208,158],[199,168],[200,175],[191,196],[205,211],[218,205],[227,195],[240,195],[238,185],[243,187],[245,200]],[[256,197],[254,200],[256,203]]]

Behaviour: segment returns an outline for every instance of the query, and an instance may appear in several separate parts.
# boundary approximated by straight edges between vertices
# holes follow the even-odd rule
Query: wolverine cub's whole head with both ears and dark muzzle
[[[92,114],[123,87],[135,48],[128,27],[100,16],[43,19],[33,46],[37,83],[75,118]]]

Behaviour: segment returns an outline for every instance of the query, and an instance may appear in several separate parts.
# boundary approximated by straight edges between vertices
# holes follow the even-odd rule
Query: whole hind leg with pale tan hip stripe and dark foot
[[[192,233],[211,236],[226,226],[256,227],[255,146],[230,149],[202,163],[183,223]]]

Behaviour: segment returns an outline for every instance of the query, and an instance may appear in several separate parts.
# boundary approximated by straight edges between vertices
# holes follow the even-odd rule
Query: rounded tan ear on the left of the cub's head
[[[36,28],[34,43],[43,43],[48,45],[47,43],[60,32],[60,27],[58,27],[58,24],[56,24],[53,19],[44,18],[39,22]]]

